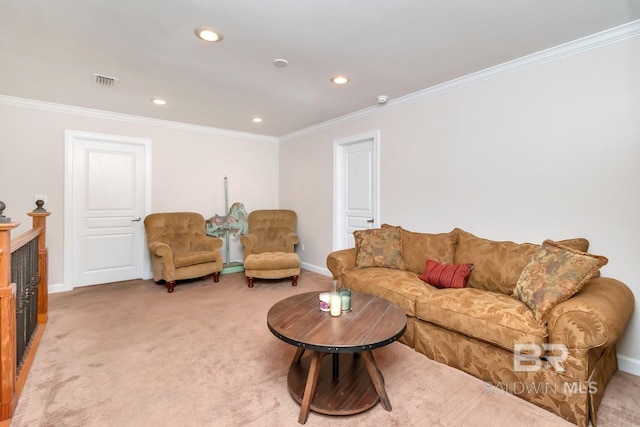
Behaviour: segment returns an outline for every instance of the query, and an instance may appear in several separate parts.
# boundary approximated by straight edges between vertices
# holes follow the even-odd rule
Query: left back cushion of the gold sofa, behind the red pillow
[[[383,224],[382,228],[393,227]],[[448,233],[416,233],[400,228],[402,240],[402,258],[405,269],[420,274],[424,271],[428,259],[441,264],[453,264],[458,243],[458,233],[452,230]]]

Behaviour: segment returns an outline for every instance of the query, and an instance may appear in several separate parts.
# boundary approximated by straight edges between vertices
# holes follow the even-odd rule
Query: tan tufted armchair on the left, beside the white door
[[[176,280],[213,274],[220,279],[222,240],[206,234],[204,217],[193,212],[156,213],[144,219],[153,280],[173,292]]]

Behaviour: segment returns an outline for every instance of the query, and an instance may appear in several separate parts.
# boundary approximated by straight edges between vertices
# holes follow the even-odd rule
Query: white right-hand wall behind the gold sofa
[[[302,261],[325,268],[333,248],[333,141],[379,129],[381,222],[588,238],[603,276],[636,295],[618,352],[640,375],[640,37],[379,111],[283,138],[280,204],[300,216]]]

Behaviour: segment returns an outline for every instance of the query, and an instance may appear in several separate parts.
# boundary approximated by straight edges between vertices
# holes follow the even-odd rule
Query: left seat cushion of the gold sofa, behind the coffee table
[[[384,298],[397,304],[407,316],[415,316],[416,299],[426,292],[437,292],[411,271],[390,268],[362,268],[345,271],[342,287]]]

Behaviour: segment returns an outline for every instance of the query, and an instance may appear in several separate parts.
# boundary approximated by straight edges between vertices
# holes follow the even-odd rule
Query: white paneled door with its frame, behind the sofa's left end
[[[379,224],[377,146],[377,132],[335,142],[334,250],[354,247],[355,230]]]

